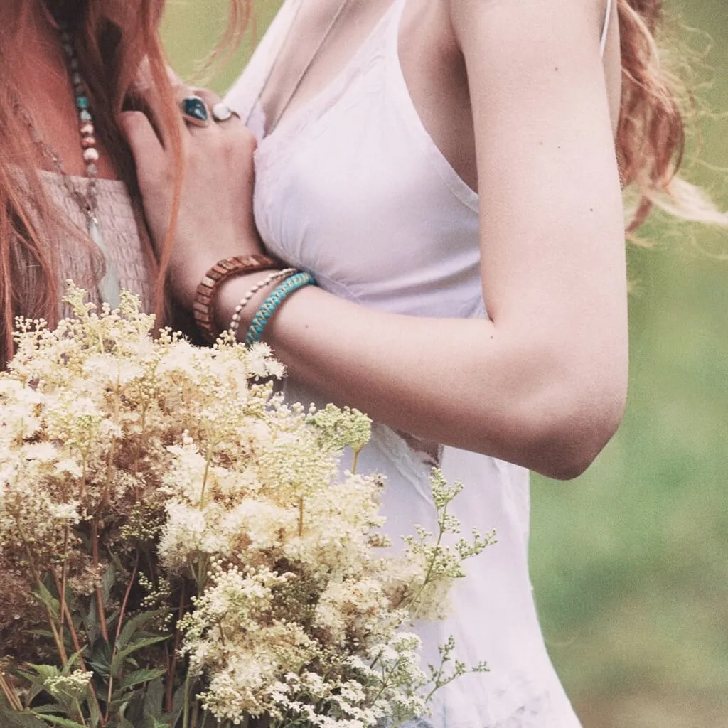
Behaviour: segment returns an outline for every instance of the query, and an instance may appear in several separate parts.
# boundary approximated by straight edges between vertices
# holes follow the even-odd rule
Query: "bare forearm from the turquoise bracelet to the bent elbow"
[[[232,317],[246,279],[221,289],[219,320]],[[326,400],[555,478],[584,470],[622,413],[620,376],[585,371],[581,347],[536,328],[389,314],[306,288],[280,306],[264,339],[289,376]]]

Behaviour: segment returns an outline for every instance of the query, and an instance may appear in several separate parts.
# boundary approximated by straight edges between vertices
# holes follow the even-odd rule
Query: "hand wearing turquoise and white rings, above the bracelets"
[[[261,251],[253,219],[253,152],[256,140],[233,115],[214,122],[212,92],[180,87],[180,100],[205,100],[210,123],[197,127],[180,122],[181,159],[170,133],[157,135],[141,111],[120,119],[134,154],[146,221],[157,253],[167,242],[176,215],[169,251],[169,280],[180,304],[191,309],[197,285],[221,258]],[[150,103],[154,114],[154,104]],[[180,175],[181,173],[181,175]]]

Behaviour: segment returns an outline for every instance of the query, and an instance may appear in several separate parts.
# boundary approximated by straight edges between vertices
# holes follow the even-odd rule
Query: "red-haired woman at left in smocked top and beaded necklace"
[[[65,280],[93,301],[119,287],[157,307],[157,265],[118,114],[142,59],[157,125],[179,148],[159,0],[0,4],[0,367],[14,317],[61,312]]]

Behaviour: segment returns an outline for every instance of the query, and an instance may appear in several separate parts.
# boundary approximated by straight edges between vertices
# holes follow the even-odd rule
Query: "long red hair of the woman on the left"
[[[0,28],[0,365],[12,355],[15,316],[42,317],[50,325],[58,319],[58,246],[69,234],[63,216],[44,194],[35,168],[37,151],[17,114],[19,79],[12,77],[9,69],[13,67],[13,56],[20,56],[17,39],[23,23],[28,22],[28,13],[37,12],[39,6],[23,0],[15,2],[15,23]],[[146,59],[146,81],[151,92],[162,100],[157,124],[170,130],[173,145],[181,149],[178,111],[159,39],[163,6],[163,0],[47,1],[54,15],[65,16],[76,29],[74,45],[94,109],[96,134],[135,201],[149,263],[160,274],[158,294],[162,292],[164,261],[157,264],[151,254],[132,156],[116,119],[132,98],[139,69]],[[22,180],[18,170],[23,173]],[[162,297],[158,297],[161,301]]]

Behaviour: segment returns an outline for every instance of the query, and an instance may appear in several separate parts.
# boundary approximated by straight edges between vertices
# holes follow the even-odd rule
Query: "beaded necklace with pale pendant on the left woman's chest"
[[[108,254],[108,248],[103,239],[103,232],[98,218],[98,160],[99,153],[97,149],[94,119],[91,111],[91,104],[87,96],[87,85],[84,82],[79,66],[79,59],[74,48],[71,29],[66,23],[55,21],[54,25],[58,27],[60,33],[60,41],[63,46],[63,52],[66,55],[66,63],[68,72],[71,76],[71,85],[74,90],[74,98],[76,100],[76,111],[79,115],[79,136],[81,141],[81,149],[83,151],[84,163],[86,165],[87,183],[85,189],[80,189],[79,185],[74,183],[71,175],[66,173],[63,161],[60,159],[58,151],[53,149],[50,144],[44,141],[43,136],[33,123],[31,115],[28,114],[20,102],[16,102],[17,113],[21,121],[28,127],[33,143],[39,147],[41,154],[50,161],[55,172],[63,179],[66,190],[79,209],[82,210],[86,217],[86,229],[91,240],[97,245],[106,259],[106,273],[98,284],[98,291],[102,301],[106,301],[113,308],[119,304],[120,285],[119,278],[114,271],[114,266]]]

